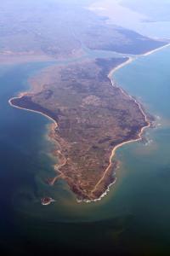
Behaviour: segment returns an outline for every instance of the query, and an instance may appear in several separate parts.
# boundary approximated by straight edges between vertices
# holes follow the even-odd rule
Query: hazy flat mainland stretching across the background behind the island
[[[94,14],[85,2],[69,3],[42,4],[32,0],[2,3],[1,63],[22,62],[26,58],[27,61],[65,60],[83,56],[85,48],[139,55],[166,44],[108,23],[107,17]]]

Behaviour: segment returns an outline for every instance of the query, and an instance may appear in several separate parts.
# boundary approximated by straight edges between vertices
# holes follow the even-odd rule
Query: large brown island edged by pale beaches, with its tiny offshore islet
[[[138,141],[150,120],[111,73],[128,57],[83,59],[48,67],[31,80],[31,90],[9,103],[52,119],[49,137],[58,159],[54,185],[68,183],[78,201],[97,201],[115,183],[116,148]],[[44,199],[48,204],[51,200]]]

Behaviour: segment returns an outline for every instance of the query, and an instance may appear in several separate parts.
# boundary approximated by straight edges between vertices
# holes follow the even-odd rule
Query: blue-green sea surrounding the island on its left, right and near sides
[[[77,203],[54,176],[50,121],[8,105],[47,64],[0,67],[0,246],[29,255],[82,252],[96,255],[168,255],[170,230],[170,48],[139,57],[114,74],[118,84],[156,116],[148,143],[119,148],[117,182],[102,201]],[[56,201],[41,205],[43,196]],[[10,247],[8,245],[10,244]]]

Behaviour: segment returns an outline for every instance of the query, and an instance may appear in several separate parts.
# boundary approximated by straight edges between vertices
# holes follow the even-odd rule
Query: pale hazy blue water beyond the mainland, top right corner
[[[91,9],[118,26],[152,38],[170,38],[170,0],[96,0]]]

